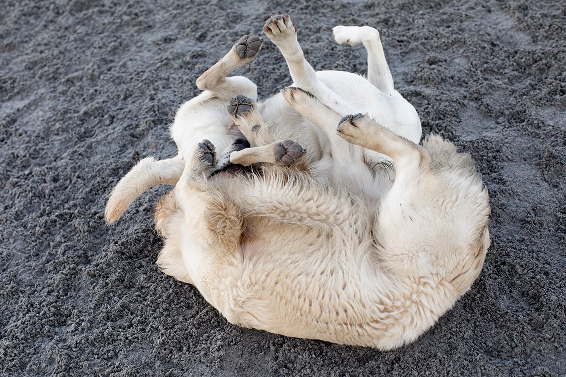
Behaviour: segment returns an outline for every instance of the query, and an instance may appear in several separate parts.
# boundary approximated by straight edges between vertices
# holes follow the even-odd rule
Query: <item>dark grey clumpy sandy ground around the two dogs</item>
[[[1,375],[565,375],[566,2],[88,0],[0,3]],[[492,246],[454,309],[391,352],[232,326],[155,265],[149,190],[112,227],[113,185],[168,158],[196,77],[271,14],[315,69],[364,73],[331,28],[379,28],[396,86],[469,151]],[[238,74],[290,84],[267,42]]]

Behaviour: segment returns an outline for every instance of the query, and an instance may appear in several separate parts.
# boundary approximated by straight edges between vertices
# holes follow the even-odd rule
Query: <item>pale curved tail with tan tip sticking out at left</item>
[[[179,157],[161,161],[153,157],[142,159],[112,190],[104,211],[106,223],[112,224],[118,220],[145,190],[158,184],[177,184],[184,168],[185,161]]]

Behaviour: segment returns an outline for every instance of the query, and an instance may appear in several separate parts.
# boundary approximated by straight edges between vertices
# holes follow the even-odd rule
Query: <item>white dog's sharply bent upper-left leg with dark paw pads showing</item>
[[[229,101],[238,93],[255,99],[258,89],[252,81],[243,76],[226,76],[254,60],[261,45],[263,45],[263,38],[251,34],[243,36],[228,51],[228,54],[196,79],[196,86],[201,90],[209,90],[215,94],[215,97],[225,101]]]

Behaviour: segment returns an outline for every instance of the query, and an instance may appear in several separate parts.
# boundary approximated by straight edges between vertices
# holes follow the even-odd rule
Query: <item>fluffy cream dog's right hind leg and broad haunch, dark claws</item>
[[[361,114],[346,116],[338,135],[395,161],[395,181],[372,228],[381,265],[405,278],[447,284],[453,297],[464,293],[490,243],[489,196],[471,159],[440,137],[414,144]],[[434,313],[453,303],[445,302]]]

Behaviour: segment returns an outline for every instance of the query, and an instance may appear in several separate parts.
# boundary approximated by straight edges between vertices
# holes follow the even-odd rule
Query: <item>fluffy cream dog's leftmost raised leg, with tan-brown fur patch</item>
[[[203,140],[195,147],[185,171],[174,188],[175,201],[183,214],[178,227],[183,261],[188,275],[203,296],[221,309],[221,279],[237,275],[242,215],[238,205],[217,190],[208,177],[215,166],[215,147]],[[235,279],[235,278],[234,278]],[[226,281],[226,287],[231,284]],[[223,313],[225,314],[225,313]]]

